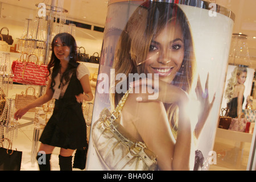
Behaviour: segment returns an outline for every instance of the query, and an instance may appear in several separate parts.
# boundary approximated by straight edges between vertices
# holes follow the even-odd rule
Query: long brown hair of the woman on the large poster
[[[129,18],[117,44],[113,68],[115,75],[125,73],[141,73],[141,64],[146,56],[153,36],[159,34],[168,23],[176,22],[181,26],[184,38],[184,59],[179,72],[176,73],[172,84],[179,86],[189,93],[195,78],[196,61],[193,51],[193,40],[190,26],[184,12],[174,3],[146,2],[139,6]],[[127,79],[127,85],[129,85]],[[115,85],[119,81],[115,81]],[[128,87],[127,87],[128,88]],[[111,94],[110,102],[116,106],[122,94]],[[170,125],[176,131],[177,106],[164,104],[167,110]]]

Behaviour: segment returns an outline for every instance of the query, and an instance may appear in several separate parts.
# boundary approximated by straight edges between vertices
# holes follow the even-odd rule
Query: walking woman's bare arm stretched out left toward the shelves
[[[38,99],[36,99],[35,101],[31,102],[30,104],[24,106],[21,109],[18,109],[15,113],[14,113],[14,118],[16,120],[22,118],[22,116],[24,114],[27,113],[28,110],[34,108],[34,107],[38,107],[43,105],[44,103],[48,102],[49,100],[52,99],[53,96],[53,92],[52,89],[50,89],[51,86],[51,79],[49,79],[48,81],[48,85],[47,85],[47,90],[46,90],[46,94],[44,94],[43,96],[39,97]]]

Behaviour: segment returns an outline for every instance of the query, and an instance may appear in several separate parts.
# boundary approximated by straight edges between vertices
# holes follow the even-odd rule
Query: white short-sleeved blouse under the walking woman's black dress
[[[90,72],[89,72],[89,69],[86,67],[86,65],[81,63],[77,67],[76,75],[77,75],[77,79],[80,80],[83,76],[90,75]],[[51,78],[51,76],[52,76],[52,72],[51,72],[50,78]],[[65,82],[65,80],[63,80],[63,82]],[[69,84],[69,82],[68,82],[68,84]],[[60,97],[64,96],[64,93],[68,88],[68,84],[61,86]],[[55,86],[53,86],[53,89],[56,90],[59,87],[59,85],[60,85],[60,73],[58,73],[57,76],[55,77]]]

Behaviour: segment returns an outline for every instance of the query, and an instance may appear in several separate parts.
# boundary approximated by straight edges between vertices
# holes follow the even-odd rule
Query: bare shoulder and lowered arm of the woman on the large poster
[[[161,170],[189,170],[192,134],[185,104],[179,105],[179,127],[175,142],[163,103],[136,102],[137,97],[138,94],[128,97],[122,118],[133,122],[147,148],[157,156]],[[129,115],[133,118],[126,117]]]

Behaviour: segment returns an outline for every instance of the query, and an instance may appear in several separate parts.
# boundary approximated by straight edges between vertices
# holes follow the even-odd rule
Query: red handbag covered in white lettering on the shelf
[[[13,61],[11,66],[14,77],[13,81],[27,85],[46,85],[48,81],[49,71],[47,65],[38,61],[36,55],[29,55],[26,59]],[[30,61],[31,56],[36,58],[36,62]]]

